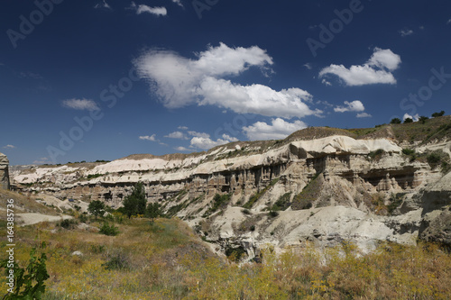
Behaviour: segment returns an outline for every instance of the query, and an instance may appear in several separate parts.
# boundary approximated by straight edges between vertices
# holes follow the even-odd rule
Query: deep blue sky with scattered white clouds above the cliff
[[[0,151],[118,159],[451,111],[449,1],[2,1]]]

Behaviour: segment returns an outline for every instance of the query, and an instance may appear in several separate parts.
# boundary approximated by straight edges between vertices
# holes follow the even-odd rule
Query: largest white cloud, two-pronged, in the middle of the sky
[[[306,105],[312,95],[298,87],[277,91],[260,84],[243,86],[232,82],[230,77],[249,68],[261,68],[263,72],[270,68],[272,58],[257,46],[230,48],[221,42],[197,53],[197,59],[168,50],[150,50],[133,63],[168,108],[216,105],[237,114],[286,118],[321,113]]]

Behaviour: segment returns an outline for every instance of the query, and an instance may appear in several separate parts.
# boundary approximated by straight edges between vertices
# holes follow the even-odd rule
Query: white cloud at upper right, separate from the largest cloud
[[[345,68],[343,65],[332,64],[319,72],[319,77],[328,74],[340,77],[346,86],[364,86],[373,84],[396,84],[391,71],[399,68],[400,56],[390,49],[375,48],[373,56],[363,65]]]

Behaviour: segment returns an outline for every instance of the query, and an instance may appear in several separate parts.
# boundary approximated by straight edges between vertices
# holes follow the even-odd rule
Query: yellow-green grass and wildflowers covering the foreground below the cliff
[[[306,245],[277,256],[268,247],[262,263],[239,265],[233,257],[212,254],[178,219],[117,220],[121,222],[115,222],[119,232],[115,236],[98,232],[105,220],[94,218],[74,222],[68,229],[58,223],[17,229],[19,265],[26,265],[32,248],[46,253],[50,277],[42,299],[446,299],[451,295],[451,256],[435,244],[382,243],[366,255],[349,243],[322,253]],[[39,247],[42,241],[47,242],[45,249]],[[5,250],[2,238],[0,251]],[[5,277],[0,277],[0,285],[5,291]]]

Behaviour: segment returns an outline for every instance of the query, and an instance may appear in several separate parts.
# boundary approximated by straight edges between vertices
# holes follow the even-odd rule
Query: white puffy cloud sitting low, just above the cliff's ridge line
[[[272,119],[271,123],[257,122],[243,128],[249,140],[281,140],[293,132],[306,128],[302,121],[286,122],[281,118]]]

